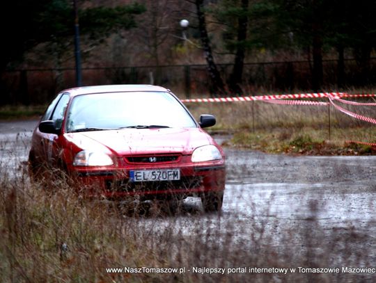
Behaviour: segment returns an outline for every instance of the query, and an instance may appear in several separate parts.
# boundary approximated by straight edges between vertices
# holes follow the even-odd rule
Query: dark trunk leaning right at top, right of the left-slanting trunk
[[[249,0],[242,0],[242,10],[248,10]],[[246,31],[248,25],[248,17],[245,14],[240,15],[237,19],[237,50],[235,54],[235,62],[233,72],[230,75],[229,86],[230,90],[237,95],[242,95],[242,76],[244,67],[245,48],[244,41],[246,40]]]

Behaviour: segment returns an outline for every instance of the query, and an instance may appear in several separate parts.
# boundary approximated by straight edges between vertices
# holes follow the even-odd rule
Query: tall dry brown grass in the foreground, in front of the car
[[[5,172],[1,172],[4,174]],[[252,202],[249,209],[254,210]],[[372,264],[364,236],[327,230],[312,217],[300,225],[272,218],[167,213],[113,202],[81,202],[64,180],[29,184],[25,176],[1,182],[1,282],[343,282],[353,274],[199,274],[198,268],[320,268]],[[258,208],[260,209],[260,208]],[[132,211],[132,212],[130,212]],[[354,248],[357,245],[362,248]],[[336,257],[335,260],[333,257]],[[107,273],[106,268],[186,268],[179,273]],[[362,278],[368,278],[362,277]]]

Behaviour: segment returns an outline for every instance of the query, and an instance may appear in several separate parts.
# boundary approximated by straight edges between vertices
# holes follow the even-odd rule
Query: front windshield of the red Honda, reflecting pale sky
[[[169,92],[111,92],[79,95],[68,111],[66,131],[196,127]]]

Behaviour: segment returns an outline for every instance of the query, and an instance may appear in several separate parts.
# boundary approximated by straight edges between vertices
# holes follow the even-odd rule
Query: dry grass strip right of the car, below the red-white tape
[[[360,102],[373,100],[358,100]],[[337,102],[337,104],[339,104]],[[340,106],[343,106],[339,104]],[[227,145],[265,152],[304,154],[375,154],[369,145],[353,145],[347,141],[376,143],[375,124],[352,118],[333,106],[290,106],[265,102],[231,102],[189,104],[198,118],[212,113],[218,123],[210,131],[230,132]],[[344,106],[355,113],[374,118],[375,106]],[[305,139],[304,147],[296,141]]]

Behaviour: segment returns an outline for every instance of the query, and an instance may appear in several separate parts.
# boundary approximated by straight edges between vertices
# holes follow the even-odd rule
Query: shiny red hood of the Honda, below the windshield
[[[104,149],[118,155],[180,152],[191,154],[196,147],[214,140],[199,128],[122,129],[68,133],[65,138],[81,149]]]

